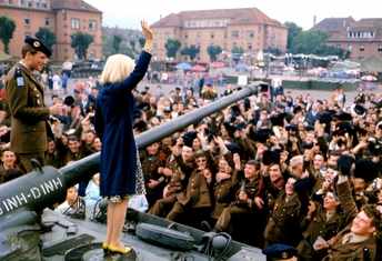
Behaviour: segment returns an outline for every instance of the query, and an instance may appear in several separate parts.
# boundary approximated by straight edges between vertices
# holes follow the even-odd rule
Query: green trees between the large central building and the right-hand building
[[[292,53],[313,53],[318,56],[345,56],[344,50],[328,46],[328,34],[321,31],[302,31],[292,42]]]

